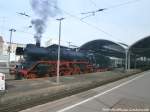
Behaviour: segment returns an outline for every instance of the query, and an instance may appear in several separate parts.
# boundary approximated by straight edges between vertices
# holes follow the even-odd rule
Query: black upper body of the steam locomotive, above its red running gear
[[[16,49],[16,55],[23,55],[24,66],[30,66],[37,61],[56,61],[58,55],[58,45],[54,44],[48,47],[40,47],[35,44],[27,44],[24,49],[18,47]],[[99,67],[107,67],[110,61],[109,58],[103,55],[68,48],[65,46],[60,46],[60,60],[85,61]]]

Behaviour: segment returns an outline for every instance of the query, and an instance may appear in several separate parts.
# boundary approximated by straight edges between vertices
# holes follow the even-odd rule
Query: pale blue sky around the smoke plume
[[[121,4],[121,5],[120,5]],[[123,5],[122,5],[123,4]],[[57,0],[58,11],[47,21],[42,36],[42,45],[47,40],[58,41],[59,21],[62,21],[61,44],[81,46],[95,39],[107,39],[132,45],[150,35],[150,0]],[[102,12],[82,19],[81,14],[106,8]],[[25,12],[31,17],[19,15]],[[90,13],[89,13],[90,14]],[[31,7],[31,0],[0,0],[0,35],[9,41],[10,31],[14,28],[12,42],[35,43],[34,28],[29,28],[37,15]]]

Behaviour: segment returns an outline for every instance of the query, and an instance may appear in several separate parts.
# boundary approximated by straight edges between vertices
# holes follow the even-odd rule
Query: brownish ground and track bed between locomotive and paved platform
[[[20,110],[67,97],[88,89],[104,85],[133,74],[140,70],[107,71],[72,76],[61,76],[60,83],[56,77],[7,80],[6,91],[0,92],[0,111],[18,112]]]

